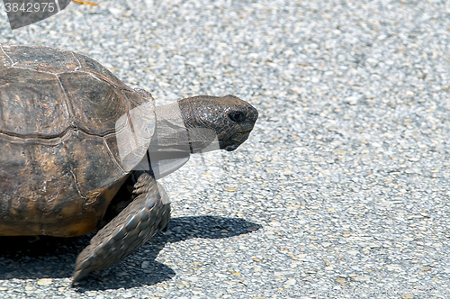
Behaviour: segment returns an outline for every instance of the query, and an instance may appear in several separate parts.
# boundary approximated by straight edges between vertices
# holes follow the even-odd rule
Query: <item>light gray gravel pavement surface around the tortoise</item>
[[[450,2],[97,2],[14,32],[2,12],[0,42],[260,118],[163,179],[170,234],[76,289],[89,237],[0,238],[1,298],[450,298]]]

